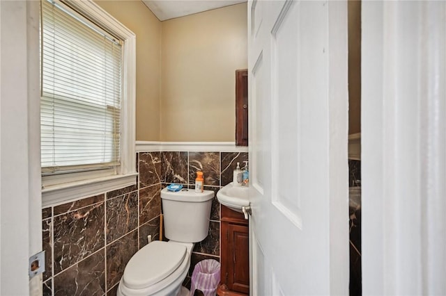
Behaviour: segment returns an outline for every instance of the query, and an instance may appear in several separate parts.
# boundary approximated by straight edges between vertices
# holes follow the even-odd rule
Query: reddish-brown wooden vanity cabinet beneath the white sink
[[[249,294],[249,232],[243,213],[222,205],[221,280],[217,295]]]

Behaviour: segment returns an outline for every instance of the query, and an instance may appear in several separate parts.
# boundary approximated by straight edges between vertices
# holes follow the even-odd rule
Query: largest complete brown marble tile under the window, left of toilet
[[[103,195],[102,195],[103,197]],[[54,217],[54,274],[105,246],[104,202]]]

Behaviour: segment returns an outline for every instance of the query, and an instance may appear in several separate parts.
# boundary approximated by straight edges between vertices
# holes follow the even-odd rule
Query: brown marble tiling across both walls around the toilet
[[[137,153],[139,176],[128,186],[42,210],[47,270],[43,295],[116,295],[125,264],[147,236],[160,239],[160,190],[169,183],[194,188],[197,170],[215,193],[232,181],[247,152],[155,151]],[[165,238],[162,238],[165,239]],[[209,235],[195,245],[185,285],[199,261],[220,261],[220,203],[213,199]]]

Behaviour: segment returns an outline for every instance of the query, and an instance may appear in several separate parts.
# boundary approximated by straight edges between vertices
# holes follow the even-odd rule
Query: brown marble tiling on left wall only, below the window
[[[160,152],[137,154],[133,186],[42,210],[43,295],[116,295],[147,236],[160,237]]]

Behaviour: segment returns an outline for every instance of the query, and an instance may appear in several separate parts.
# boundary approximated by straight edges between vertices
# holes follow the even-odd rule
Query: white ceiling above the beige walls
[[[141,0],[160,21],[193,15],[206,10],[243,3],[247,0]]]

